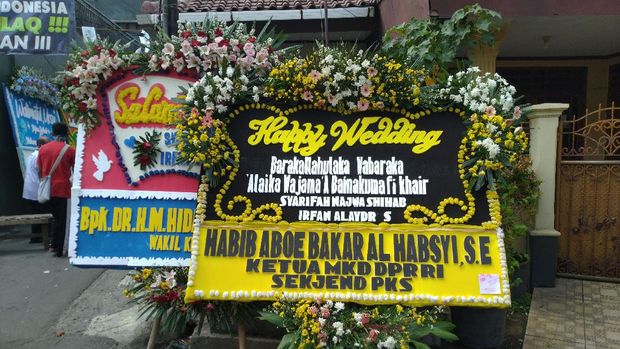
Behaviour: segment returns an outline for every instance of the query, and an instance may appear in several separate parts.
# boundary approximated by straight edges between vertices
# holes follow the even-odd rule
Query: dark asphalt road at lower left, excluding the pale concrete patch
[[[67,348],[67,341],[86,347],[92,339],[58,337],[54,326],[102,272],[73,267],[27,239],[0,241],[0,348]],[[102,348],[113,347],[106,339],[98,341]]]

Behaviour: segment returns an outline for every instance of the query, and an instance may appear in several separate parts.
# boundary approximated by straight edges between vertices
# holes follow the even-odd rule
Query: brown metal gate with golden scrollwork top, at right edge
[[[558,272],[620,278],[620,107],[613,103],[559,128]]]

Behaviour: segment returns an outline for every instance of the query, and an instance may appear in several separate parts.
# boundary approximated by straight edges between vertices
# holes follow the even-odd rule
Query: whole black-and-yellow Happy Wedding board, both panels
[[[239,166],[206,194],[186,299],[509,304],[496,196],[460,175],[462,114],[235,109]]]

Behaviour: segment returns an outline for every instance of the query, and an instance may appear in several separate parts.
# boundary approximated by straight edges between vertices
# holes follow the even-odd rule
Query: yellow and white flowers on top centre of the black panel
[[[424,77],[423,70],[385,56],[319,45],[273,69],[264,95],[281,104],[305,101],[344,113],[387,106],[411,110],[420,104]]]

